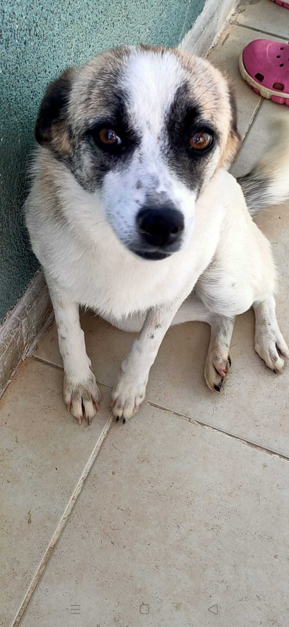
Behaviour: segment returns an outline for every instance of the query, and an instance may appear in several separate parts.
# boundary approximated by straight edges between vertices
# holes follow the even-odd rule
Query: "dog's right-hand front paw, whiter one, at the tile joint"
[[[139,411],[139,406],[145,398],[147,379],[144,377],[132,377],[129,372],[120,375],[117,384],[112,389],[113,414],[118,421],[122,418],[123,424],[128,418],[132,418]]]

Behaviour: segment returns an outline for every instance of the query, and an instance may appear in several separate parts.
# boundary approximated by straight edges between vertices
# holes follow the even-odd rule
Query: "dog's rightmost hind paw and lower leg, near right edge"
[[[253,303],[255,313],[255,350],[268,368],[282,372],[284,359],[289,359],[288,346],[279,329],[275,312],[275,298]]]

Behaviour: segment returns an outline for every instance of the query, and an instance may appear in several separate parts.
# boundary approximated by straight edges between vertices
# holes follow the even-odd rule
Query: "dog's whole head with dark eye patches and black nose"
[[[95,198],[123,245],[186,246],[201,189],[239,143],[226,79],[179,49],[117,48],[51,83],[35,136]]]

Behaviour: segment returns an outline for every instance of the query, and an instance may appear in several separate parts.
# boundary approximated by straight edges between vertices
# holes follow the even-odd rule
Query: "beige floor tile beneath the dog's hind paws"
[[[288,278],[278,306],[281,329],[288,336],[287,293]],[[209,329],[199,323],[171,329],[150,373],[147,398],[289,456],[289,366],[281,376],[269,371],[255,353],[253,337],[250,311],[236,320],[230,350],[232,370],[218,396],[206,387],[203,377]],[[141,414],[136,419],[141,419]]]

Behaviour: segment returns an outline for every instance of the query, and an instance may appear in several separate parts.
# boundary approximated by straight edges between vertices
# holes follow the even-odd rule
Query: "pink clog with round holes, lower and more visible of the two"
[[[239,58],[239,68],[244,80],[260,96],[289,105],[288,43],[251,41]]]

